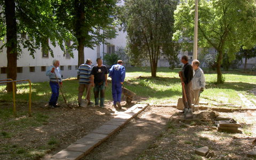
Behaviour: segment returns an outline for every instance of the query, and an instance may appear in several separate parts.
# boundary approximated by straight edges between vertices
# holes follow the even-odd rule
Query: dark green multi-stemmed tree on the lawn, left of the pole
[[[138,62],[149,60],[152,77],[156,77],[161,52],[176,56],[177,43],[172,41],[172,36],[173,12],[177,4],[178,0],[127,0],[120,9],[131,61],[138,65]]]

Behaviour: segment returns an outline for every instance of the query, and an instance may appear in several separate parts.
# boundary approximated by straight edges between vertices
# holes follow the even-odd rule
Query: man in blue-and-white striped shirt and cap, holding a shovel
[[[77,75],[79,77],[79,87],[78,87],[78,106],[79,107],[82,102],[84,89],[86,89],[86,93],[88,90],[90,90],[89,85],[90,85],[90,77],[91,77],[91,70],[92,70],[91,65],[92,65],[92,60],[87,59],[86,63],[79,66],[77,71]],[[91,94],[89,91],[86,97],[86,99],[89,101],[89,105],[92,104],[92,102],[90,102],[90,97],[91,97],[90,95]]]

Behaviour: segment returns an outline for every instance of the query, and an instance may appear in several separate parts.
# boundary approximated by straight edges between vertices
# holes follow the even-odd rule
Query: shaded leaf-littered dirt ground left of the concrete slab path
[[[65,106],[64,103],[61,103],[60,105]],[[134,103],[127,105],[126,102],[122,102],[121,105],[123,106],[123,109],[119,111],[124,111],[133,106]],[[77,107],[77,105],[74,104],[73,109],[64,107],[49,109],[44,107],[45,103],[34,103],[33,106],[33,114],[41,114],[48,118],[46,118],[45,122],[41,125],[34,124],[33,121],[35,121],[36,116],[28,117],[27,115],[22,115],[17,118],[11,118],[0,122],[1,133],[11,133],[11,137],[9,138],[0,137],[0,150],[3,148],[6,149],[6,146],[14,146],[16,148],[18,146],[25,150],[33,149],[35,153],[49,153],[49,155],[45,156],[49,157],[50,155],[57,153],[59,150],[66,148],[70,143],[82,138],[84,135],[101,126],[103,123],[113,118],[114,115],[118,114],[118,111],[114,109],[111,102],[106,102],[105,108],[94,106],[82,108]],[[12,103],[2,102],[0,104],[0,109],[6,107],[12,108]],[[17,113],[28,110],[27,108],[27,103],[19,103]],[[22,126],[22,119],[31,121],[31,123],[29,122],[28,126]],[[17,125],[15,127],[10,127],[10,125],[8,125],[14,124],[15,121],[17,121],[17,123],[19,122],[21,125]],[[58,142],[57,147],[49,147],[51,139]],[[21,154],[23,154],[25,151],[21,152]],[[19,154],[16,155],[10,150],[4,151],[4,149],[0,151],[0,153],[1,160],[17,158],[38,159],[37,156],[33,158],[31,156],[21,158]]]

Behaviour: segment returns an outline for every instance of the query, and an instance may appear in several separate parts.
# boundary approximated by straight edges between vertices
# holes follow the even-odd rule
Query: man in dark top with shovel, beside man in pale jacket
[[[191,95],[190,95],[191,91],[192,91],[192,81],[191,80],[193,79],[194,70],[193,70],[192,66],[189,65],[189,63],[188,63],[187,55],[182,56],[181,62],[184,64],[182,70],[180,71],[180,75],[183,78],[182,85],[184,85],[184,88],[185,88],[186,97],[187,97],[187,101],[188,101],[188,107],[191,108],[191,102],[192,102]],[[186,106],[183,90],[182,90],[182,100],[183,100],[184,106]]]

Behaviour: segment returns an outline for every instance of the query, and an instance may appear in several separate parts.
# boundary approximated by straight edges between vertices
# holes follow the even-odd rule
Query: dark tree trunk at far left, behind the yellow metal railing
[[[7,78],[17,79],[17,22],[14,0],[5,0]],[[12,91],[12,84],[7,83],[6,90]],[[16,91],[15,84],[15,91]]]

